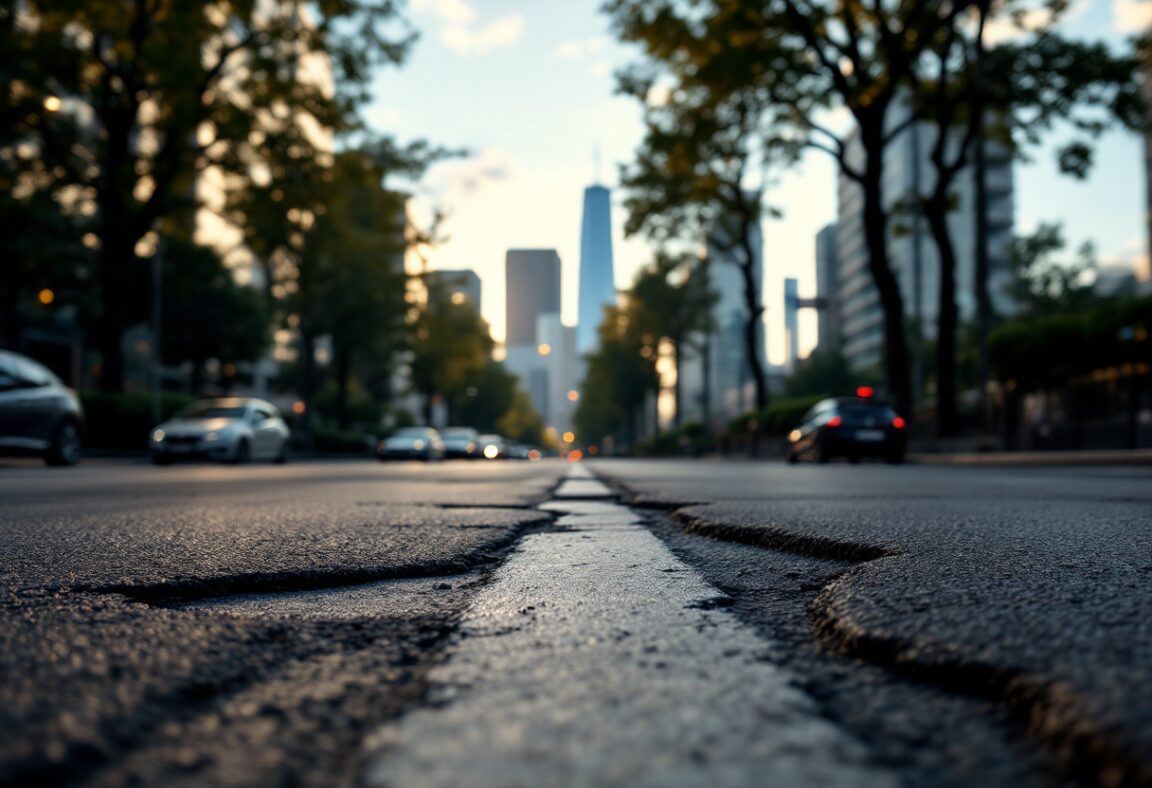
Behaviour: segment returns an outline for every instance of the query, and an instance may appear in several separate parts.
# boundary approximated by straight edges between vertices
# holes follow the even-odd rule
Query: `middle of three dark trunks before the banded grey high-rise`
[[[956,434],[956,250],[948,229],[948,195],[938,188],[925,202],[924,212],[940,257],[940,290],[937,304],[937,437]]]

